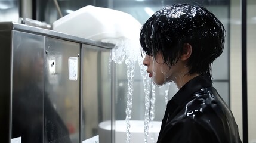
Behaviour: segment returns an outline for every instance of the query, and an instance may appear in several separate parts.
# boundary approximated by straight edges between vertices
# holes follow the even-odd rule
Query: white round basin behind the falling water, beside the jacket
[[[143,143],[144,142],[144,121],[143,120],[131,120],[131,133],[130,143]],[[159,131],[161,128],[161,122],[153,121],[149,124],[149,136],[147,138],[148,143],[156,142],[158,139]],[[115,143],[125,143],[126,141],[126,129],[127,125],[125,120],[117,120],[115,122]],[[111,138],[111,122],[104,121],[99,124],[99,141],[100,143],[109,143]]]

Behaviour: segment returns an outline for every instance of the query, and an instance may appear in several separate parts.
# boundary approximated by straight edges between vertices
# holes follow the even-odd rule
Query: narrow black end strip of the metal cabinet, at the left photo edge
[[[10,139],[10,78],[11,78],[11,30],[0,30],[0,138],[1,142]]]

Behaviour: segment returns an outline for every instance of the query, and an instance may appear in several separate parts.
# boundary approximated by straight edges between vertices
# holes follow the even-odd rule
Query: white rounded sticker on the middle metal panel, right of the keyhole
[[[78,80],[78,57],[69,57],[69,80]]]

